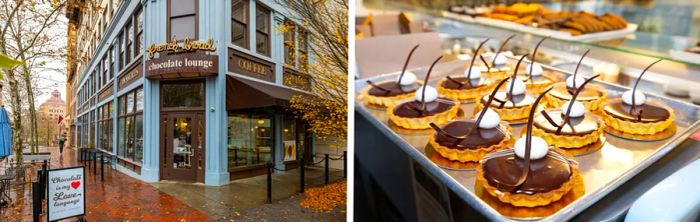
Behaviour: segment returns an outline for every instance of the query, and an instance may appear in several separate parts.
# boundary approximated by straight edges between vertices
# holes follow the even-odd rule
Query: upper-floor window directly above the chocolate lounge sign
[[[169,39],[177,41],[196,38],[195,0],[170,0]]]

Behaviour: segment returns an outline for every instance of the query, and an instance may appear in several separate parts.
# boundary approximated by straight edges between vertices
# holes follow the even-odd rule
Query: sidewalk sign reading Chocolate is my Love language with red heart
[[[85,168],[51,169],[47,180],[48,221],[85,215]]]

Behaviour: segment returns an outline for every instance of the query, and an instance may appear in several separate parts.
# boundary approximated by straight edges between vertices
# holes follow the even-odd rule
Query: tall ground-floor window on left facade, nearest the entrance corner
[[[142,88],[126,93],[118,100],[117,155],[136,163],[143,161],[143,105],[137,105],[143,104],[142,100]]]

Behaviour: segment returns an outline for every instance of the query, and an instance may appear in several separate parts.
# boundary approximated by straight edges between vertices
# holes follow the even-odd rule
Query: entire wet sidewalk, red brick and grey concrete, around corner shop
[[[40,149],[47,151],[52,152],[51,168],[82,165],[72,149],[65,149],[62,156],[57,148]],[[41,164],[34,167],[39,169]],[[95,175],[93,168],[85,169],[88,221],[345,221],[345,207],[315,212],[299,205],[303,195],[299,194],[298,168],[273,174],[272,204],[267,204],[267,175],[235,180],[224,186],[205,186],[149,184],[107,164],[105,180],[100,181],[100,165],[95,169]],[[339,169],[331,169],[329,175],[331,183],[344,179]],[[307,188],[325,183],[322,167],[307,167],[305,178]],[[31,186],[13,188],[11,198],[12,203],[0,212],[1,221],[31,221]],[[41,218],[45,221],[46,216]]]

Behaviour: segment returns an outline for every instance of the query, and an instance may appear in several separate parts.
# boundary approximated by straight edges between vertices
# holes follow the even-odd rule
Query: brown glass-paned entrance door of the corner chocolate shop
[[[204,182],[204,114],[161,114],[161,177]]]

